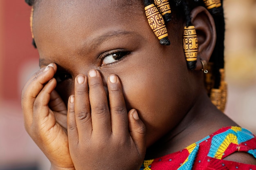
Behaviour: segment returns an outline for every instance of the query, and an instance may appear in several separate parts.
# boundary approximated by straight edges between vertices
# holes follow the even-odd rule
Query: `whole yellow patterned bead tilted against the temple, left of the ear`
[[[151,29],[154,31],[157,38],[160,40],[160,43],[163,45],[170,45],[170,41],[168,40],[168,33],[166,26],[164,24],[164,19],[162,15],[159,13],[155,4],[150,4],[145,7],[146,17],[148,19],[148,24]]]

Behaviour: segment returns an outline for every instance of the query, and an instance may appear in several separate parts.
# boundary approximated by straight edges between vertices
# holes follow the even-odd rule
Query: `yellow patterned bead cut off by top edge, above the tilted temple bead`
[[[166,22],[171,21],[171,7],[168,0],[154,0],[155,6]]]

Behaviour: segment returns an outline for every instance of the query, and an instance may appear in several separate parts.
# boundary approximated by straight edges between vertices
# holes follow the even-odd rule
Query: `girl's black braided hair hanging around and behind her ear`
[[[144,5],[147,6],[148,4],[154,3],[154,0],[143,0]],[[162,0],[163,1],[163,0]],[[164,0],[167,1],[168,0]],[[211,55],[211,58],[209,60],[208,64],[208,71],[209,73],[205,75],[205,86],[208,91],[208,95],[211,97],[212,91],[214,89],[220,90],[221,94],[218,94],[218,99],[214,99],[211,97],[212,102],[220,109],[224,110],[225,108],[225,100],[226,100],[226,88],[223,87],[223,69],[224,69],[224,38],[225,38],[225,18],[224,18],[224,13],[223,13],[223,8],[222,8],[222,1],[223,0],[169,0],[170,7],[172,11],[175,11],[176,15],[175,17],[182,17],[186,21],[186,26],[191,26],[191,9],[198,7],[198,6],[203,6],[209,10],[211,15],[213,16],[213,19],[216,24],[216,46],[213,50],[213,53]],[[25,2],[29,6],[33,6],[35,3],[35,0],[25,0]],[[214,6],[211,5],[209,7],[208,2],[213,2]],[[207,4],[208,3],[208,4]],[[163,19],[165,22],[171,22],[172,15],[171,13],[168,13],[167,15],[163,16]],[[32,44],[36,47],[36,43],[32,41]],[[188,68],[195,68],[195,62],[192,63],[191,66],[188,65]],[[225,94],[223,94],[223,92]],[[225,99],[221,99],[225,98]],[[217,102],[214,100],[218,100]],[[220,104],[221,100],[222,104]],[[224,102],[224,104],[223,104]],[[222,105],[222,106],[219,106]],[[224,105],[224,106],[223,106]]]

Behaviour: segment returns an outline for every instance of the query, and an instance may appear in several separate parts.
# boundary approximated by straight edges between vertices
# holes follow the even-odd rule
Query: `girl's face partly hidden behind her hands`
[[[56,90],[65,102],[74,94],[76,75],[97,69],[103,82],[117,75],[127,109],[137,109],[146,124],[149,146],[182,120],[193,100],[179,24],[168,24],[171,45],[163,46],[142,0],[40,0],[33,31],[40,66],[58,66]]]

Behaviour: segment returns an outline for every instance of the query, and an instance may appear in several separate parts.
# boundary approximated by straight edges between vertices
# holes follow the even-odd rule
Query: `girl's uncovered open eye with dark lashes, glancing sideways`
[[[112,64],[112,63],[115,63],[117,61],[120,61],[120,60],[123,59],[123,57],[125,57],[128,54],[130,54],[129,51],[124,51],[124,50],[121,50],[121,49],[105,52],[105,53],[101,54],[100,57],[99,57],[102,60],[101,61],[101,66]],[[107,58],[107,57],[110,57],[110,58]],[[107,59],[109,61],[107,61]],[[105,62],[108,62],[108,63],[104,64],[104,60],[105,60]],[[110,61],[110,60],[115,60],[115,61]]]

